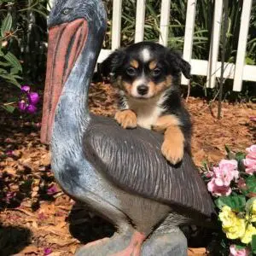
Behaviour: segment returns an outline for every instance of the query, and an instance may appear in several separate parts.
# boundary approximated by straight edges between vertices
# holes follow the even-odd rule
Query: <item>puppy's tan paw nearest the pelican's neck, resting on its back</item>
[[[137,116],[130,109],[118,111],[117,113],[115,113],[114,119],[116,119],[119,125],[121,125],[125,129],[137,127]]]

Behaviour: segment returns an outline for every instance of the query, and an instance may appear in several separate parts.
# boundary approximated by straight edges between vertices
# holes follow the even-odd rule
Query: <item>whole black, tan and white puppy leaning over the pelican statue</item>
[[[190,65],[176,51],[151,42],[114,51],[100,65],[119,88],[119,111],[114,119],[123,128],[141,126],[164,133],[162,154],[173,165],[190,153],[191,122],[183,107],[178,79],[189,79]]]

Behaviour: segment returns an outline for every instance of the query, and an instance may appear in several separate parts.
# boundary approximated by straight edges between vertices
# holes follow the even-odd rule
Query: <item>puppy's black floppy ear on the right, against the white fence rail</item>
[[[167,59],[170,67],[172,67],[174,72],[182,72],[186,79],[191,78],[191,66],[189,62],[183,60],[182,55],[179,52],[170,49],[167,55]]]

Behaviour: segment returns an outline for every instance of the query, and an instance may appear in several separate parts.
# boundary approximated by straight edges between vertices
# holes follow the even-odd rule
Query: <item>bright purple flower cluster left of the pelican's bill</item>
[[[39,96],[37,92],[30,91],[30,86],[21,86],[21,91],[25,97],[23,97],[18,103],[21,112],[35,113],[37,111],[36,105],[39,102]]]

